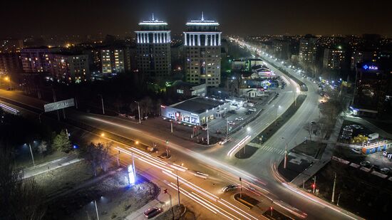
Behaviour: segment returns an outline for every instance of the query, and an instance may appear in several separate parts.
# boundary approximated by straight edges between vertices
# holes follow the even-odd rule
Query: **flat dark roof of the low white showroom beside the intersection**
[[[170,105],[170,107],[200,114],[202,112],[205,112],[206,110],[211,110],[212,108],[217,108],[218,106],[223,105],[223,104],[225,104],[225,101],[223,101],[223,100],[195,97],[195,98],[191,98],[191,99],[182,101],[181,103],[176,103],[174,105]]]

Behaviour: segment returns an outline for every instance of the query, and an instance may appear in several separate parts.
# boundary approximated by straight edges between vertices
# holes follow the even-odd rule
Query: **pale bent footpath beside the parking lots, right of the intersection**
[[[323,155],[321,156],[321,159],[318,162],[314,162],[314,164],[311,164],[311,166],[304,170],[304,172],[301,172],[301,174],[298,175],[298,177],[294,178],[292,180],[292,184],[296,186],[302,185],[304,182],[306,182],[310,177],[313,177],[316,172],[319,172],[321,168],[323,168],[329,161],[331,161],[331,157],[334,154],[334,148],[336,146],[336,142],[339,137],[339,132],[341,129],[341,125],[343,124],[344,118],[339,117],[336,120],[335,127],[334,127],[334,132],[331,134],[331,137],[329,137],[328,144],[326,145],[326,148],[324,150]]]

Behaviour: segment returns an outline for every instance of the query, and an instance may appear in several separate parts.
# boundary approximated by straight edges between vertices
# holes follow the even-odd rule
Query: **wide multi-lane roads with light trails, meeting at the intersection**
[[[243,42],[238,41],[238,43]],[[272,62],[268,61],[267,58],[264,58],[264,60]],[[275,63],[275,65],[278,64]],[[184,197],[182,199],[187,199],[186,202],[188,203],[196,204],[195,207],[202,210],[202,217],[205,219],[211,219],[209,214],[214,214],[222,219],[261,219],[262,211],[267,210],[269,206],[273,206],[274,209],[278,209],[296,219],[359,219],[358,216],[346,213],[339,207],[282,182],[276,172],[275,165],[283,158],[281,152],[284,150],[286,142],[288,142],[289,147],[294,147],[304,140],[307,134],[303,129],[305,123],[319,117],[317,108],[319,95],[316,94],[316,85],[311,81],[305,78],[301,79],[309,89],[306,92],[306,100],[292,118],[264,144],[277,150],[259,149],[249,159],[237,159],[233,156],[233,153],[230,154],[230,152],[239,150],[240,147],[237,147],[237,145],[242,144],[243,140],[246,139],[246,142],[249,142],[252,137],[258,135],[265,127],[274,122],[276,115],[280,115],[287,110],[294,100],[294,95],[297,95],[298,85],[294,80],[272,66],[269,66],[269,68],[281,75],[284,80],[287,80],[287,88],[282,90],[279,98],[264,108],[264,111],[256,120],[247,125],[249,129],[235,132],[232,135],[232,141],[224,146],[202,147],[170,135],[168,129],[139,125],[118,117],[93,115],[73,109],[66,110],[66,114],[67,117],[73,120],[97,127],[100,130],[105,130],[105,132],[138,140],[146,145],[152,145],[155,142],[158,144],[160,152],[165,151],[165,141],[170,140],[169,147],[172,157],[167,161],[155,157],[156,155],[152,156],[120,143],[117,145],[119,149],[116,150],[122,152],[121,157],[123,159],[121,160],[128,164],[130,163],[129,154],[132,152],[135,156],[136,166],[139,167],[138,171],[171,189],[172,195],[175,195],[176,192],[176,175],[178,173],[180,176],[180,191],[182,197]],[[14,100],[17,103],[24,103],[24,105],[29,105],[36,110],[43,109],[44,102],[42,100],[26,97],[16,91],[0,90],[0,97]],[[14,106],[14,108],[18,107]],[[19,108],[19,110],[38,117],[37,111],[28,111],[26,106]],[[41,118],[43,122],[51,120],[46,115],[41,115]],[[75,135],[77,132],[81,132],[77,128],[75,130]],[[87,136],[83,135],[83,137],[89,138]],[[183,167],[187,169],[175,164],[183,164]],[[195,176],[195,172],[201,172],[209,176],[207,179],[203,179]],[[239,177],[244,180],[244,187],[249,189],[248,193],[262,201],[260,208],[246,209],[232,199],[232,194],[222,193],[222,187],[233,182],[239,183]]]

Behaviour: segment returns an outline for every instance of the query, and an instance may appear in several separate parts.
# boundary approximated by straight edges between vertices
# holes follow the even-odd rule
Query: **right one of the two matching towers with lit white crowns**
[[[185,73],[189,83],[206,83],[208,87],[220,85],[221,33],[216,21],[190,21],[184,32]]]

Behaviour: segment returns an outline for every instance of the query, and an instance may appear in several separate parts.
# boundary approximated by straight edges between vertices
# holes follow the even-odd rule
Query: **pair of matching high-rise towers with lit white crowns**
[[[207,21],[186,23],[184,31],[185,76],[189,83],[208,87],[220,85],[220,24]],[[170,58],[170,30],[165,21],[153,18],[139,23],[135,31],[138,54],[138,70],[150,78],[167,79],[172,71]]]

